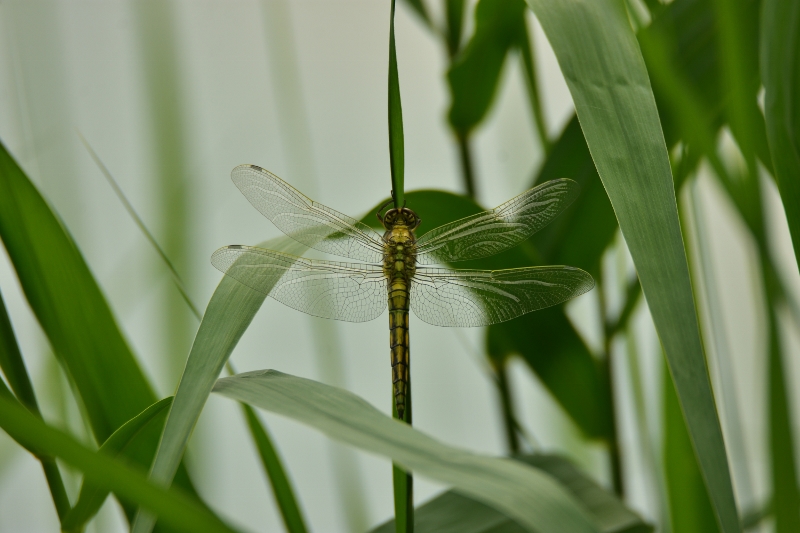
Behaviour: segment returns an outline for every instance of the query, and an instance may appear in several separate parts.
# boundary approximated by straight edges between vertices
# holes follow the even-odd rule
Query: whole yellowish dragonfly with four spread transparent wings
[[[453,270],[442,265],[511,248],[561,213],[579,193],[570,179],[547,181],[492,209],[434,228],[405,207],[377,212],[384,233],[317,203],[256,165],[231,172],[248,201],[278,229],[315,250],[359,261],[307,259],[263,248],[220,248],[226,275],[304,313],[366,322],[389,308],[392,382],[403,419],[409,384],[409,310],[434,326],[488,326],[565,302],[594,287],[569,266]],[[438,266],[437,266],[438,265]]]

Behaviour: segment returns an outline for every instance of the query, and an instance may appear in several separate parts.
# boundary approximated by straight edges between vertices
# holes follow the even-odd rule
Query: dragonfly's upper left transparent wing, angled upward
[[[383,257],[380,235],[366,224],[315,202],[256,165],[231,172],[242,194],[289,237],[317,250],[368,263]]]

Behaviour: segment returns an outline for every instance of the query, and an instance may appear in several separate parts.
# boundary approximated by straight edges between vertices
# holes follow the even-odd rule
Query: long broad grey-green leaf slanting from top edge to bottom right
[[[616,0],[530,0],[570,88],[664,347],[725,533],[740,531],[697,323],[672,172],[650,81]]]

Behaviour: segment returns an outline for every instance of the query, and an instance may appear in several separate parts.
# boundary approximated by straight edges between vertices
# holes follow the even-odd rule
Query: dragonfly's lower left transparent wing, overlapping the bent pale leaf
[[[317,261],[251,246],[220,248],[211,264],[251,289],[322,318],[366,322],[388,301],[378,265]]]

